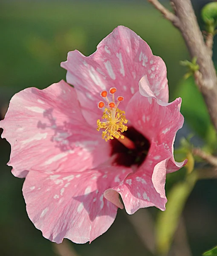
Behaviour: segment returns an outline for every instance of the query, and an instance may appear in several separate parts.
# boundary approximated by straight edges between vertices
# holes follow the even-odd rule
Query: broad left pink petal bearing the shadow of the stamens
[[[64,81],[15,94],[0,127],[11,144],[8,164],[17,177],[32,169],[79,172],[110,154],[109,144],[82,116],[75,89]]]

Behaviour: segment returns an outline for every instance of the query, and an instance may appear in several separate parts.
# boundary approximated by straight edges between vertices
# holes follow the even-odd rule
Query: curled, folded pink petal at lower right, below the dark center
[[[142,166],[128,175],[123,183],[113,187],[121,195],[128,214],[150,206],[165,210],[166,167],[170,157],[171,153],[163,145],[152,143]]]

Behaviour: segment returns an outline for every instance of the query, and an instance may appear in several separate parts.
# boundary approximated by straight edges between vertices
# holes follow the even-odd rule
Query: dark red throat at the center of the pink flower
[[[126,167],[132,165],[140,166],[148,155],[148,150],[150,148],[149,140],[133,127],[128,127],[123,135],[134,143],[135,148],[129,149],[119,142],[119,140],[110,140],[112,146],[111,156],[116,154],[114,163]]]

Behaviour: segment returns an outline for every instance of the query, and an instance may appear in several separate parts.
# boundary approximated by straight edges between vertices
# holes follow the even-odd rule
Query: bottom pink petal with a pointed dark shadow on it
[[[118,209],[104,198],[104,190],[130,172],[110,163],[82,173],[29,172],[23,184],[29,218],[56,243],[64,238],[75,243],[93,241],[111,226]]]

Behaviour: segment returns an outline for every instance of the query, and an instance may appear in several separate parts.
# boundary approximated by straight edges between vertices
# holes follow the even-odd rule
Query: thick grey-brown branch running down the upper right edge
[[[161,4],[158,0],[148,1],[160,12],[165,12],[164,7],[159,9]],[[210,49],[204,42],[191,0],[171,0],[171,4],[178,23],[174,23],[171,19],[169,20],[182,33],[191,57],[197,57],[200,70],[197,72],[195,82],[203,94],[209,115],[217,131],[217,74],[211,58]],[[208,44],[210,43],[208,42]]]

